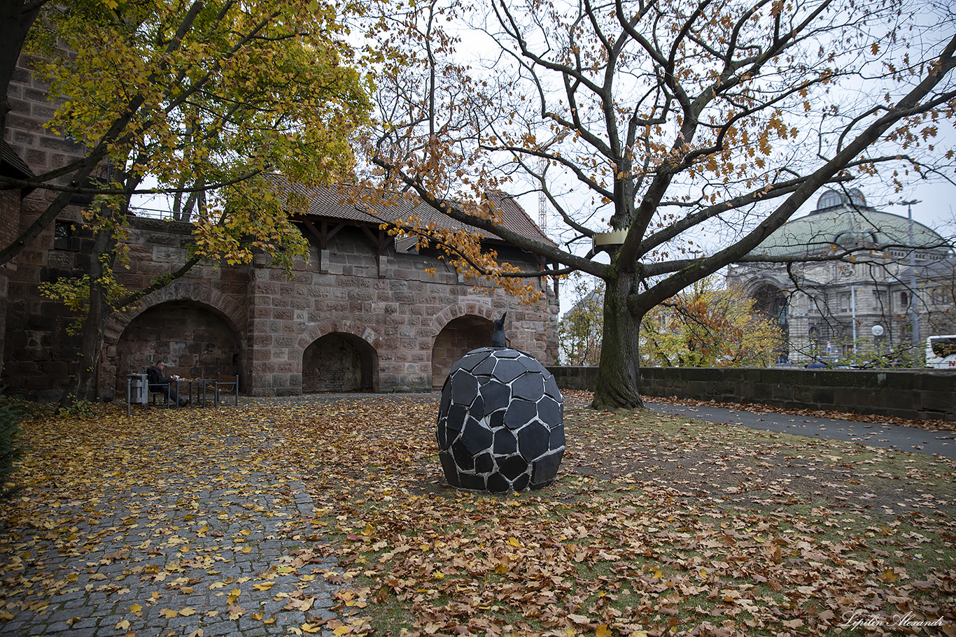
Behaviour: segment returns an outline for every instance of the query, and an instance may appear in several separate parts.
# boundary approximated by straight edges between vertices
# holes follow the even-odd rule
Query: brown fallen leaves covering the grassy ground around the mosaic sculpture
[[[569,407],[554,485],[495,496],[445,485],[435,411],[378,398],[282,426],[385,634],[830,634],[857,612],[953,633],[952,461]]]

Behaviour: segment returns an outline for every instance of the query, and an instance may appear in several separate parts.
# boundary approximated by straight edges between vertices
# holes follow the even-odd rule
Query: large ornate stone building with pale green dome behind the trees
[[[782,361],[881,355],[956,330],[952,246],[923,223],[868,205],[858,189],[827,190],[751,254],[806,260],[728,268],[728,285],[745,287],[784,328]]]

